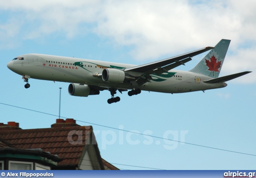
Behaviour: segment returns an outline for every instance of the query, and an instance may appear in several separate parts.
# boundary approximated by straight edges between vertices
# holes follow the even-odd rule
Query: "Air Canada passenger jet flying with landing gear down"
[[[88,97],[110,91],[108,103],[120,101],[116,91],[128,91],[138,95],[141,91],[161,93],[186,93],[226,87],[226,81],[251,71],[218,77],[231,40],[222,39],[215,47],[205,47],[192,52],[159,61],[130,65],[106,61],[61,57],[45,54],[24,54],[7,64],[13,72],[22,75],[29,88],[28,79],[68,82],[68,93],[72,96]],[[210,50],[210,51],[209,51]],[[209,51],[190,71],[174,70],[185,65],[200,53]]]

